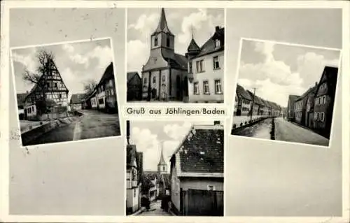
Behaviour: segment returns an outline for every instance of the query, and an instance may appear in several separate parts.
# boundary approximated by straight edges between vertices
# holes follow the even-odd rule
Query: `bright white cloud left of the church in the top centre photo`
[[[127,70],[139,71],[146,64],[145,55],[149,55],[148,45],[140,40],[127,42]]]

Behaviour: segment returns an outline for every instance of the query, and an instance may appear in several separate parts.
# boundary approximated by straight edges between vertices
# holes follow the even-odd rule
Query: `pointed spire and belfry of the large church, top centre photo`
[[[165,48],[174,52],[174,34],[170,31],[165,10],[162,8],[157,29],[151,34],[151,50]]]

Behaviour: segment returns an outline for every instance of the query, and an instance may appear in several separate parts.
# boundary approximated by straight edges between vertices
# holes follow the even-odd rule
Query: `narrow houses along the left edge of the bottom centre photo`
[[[130,144],[130,122],[127,121],[126,154],[126,211],[127,215],[141,208],[141,175],[143,153],[137,152],[136,145]]]

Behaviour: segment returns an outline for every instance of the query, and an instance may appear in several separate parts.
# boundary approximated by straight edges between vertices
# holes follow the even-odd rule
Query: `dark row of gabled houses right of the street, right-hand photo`
[[[330,137],[337,85],[337,67],[325,66],[320,81],[302,96],[290,95],[287,118]]]

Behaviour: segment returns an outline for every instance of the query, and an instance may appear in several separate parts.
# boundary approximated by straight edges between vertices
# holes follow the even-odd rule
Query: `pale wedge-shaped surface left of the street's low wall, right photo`
[[[267,118],[256,124],[253,124],[250,127],[246,127],[242,129],[241,131],[237,132],[235,135],[270,139],[271,124],[272,124],[272,119]]]

